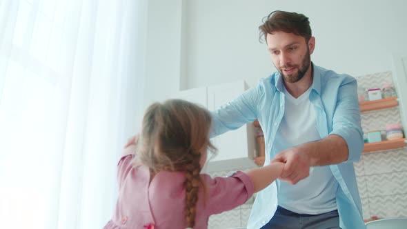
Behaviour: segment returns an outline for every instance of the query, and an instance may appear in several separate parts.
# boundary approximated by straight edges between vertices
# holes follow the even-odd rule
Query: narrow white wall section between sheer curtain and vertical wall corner
[[[181,0],[148,0],[144,106],[179,90]]]

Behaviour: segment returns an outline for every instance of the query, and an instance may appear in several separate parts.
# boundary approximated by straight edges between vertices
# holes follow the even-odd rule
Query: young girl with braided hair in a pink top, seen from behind
[[[200,174],[209,141],[210,114],[193,103],[152,104],[118,164],[119,199],[105,228],[207,228],[210,215],[231,210],[275,181],[283,163],[230,177]]]

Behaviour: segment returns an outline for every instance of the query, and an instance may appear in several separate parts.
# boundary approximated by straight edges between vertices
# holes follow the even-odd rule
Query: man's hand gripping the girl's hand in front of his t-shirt
[[[310,175],[310,159],[299,148],[289,148],[280,152],[270,161],[270,163],[273,162],[285,163],[279,179],[288,183],[296,184]]]

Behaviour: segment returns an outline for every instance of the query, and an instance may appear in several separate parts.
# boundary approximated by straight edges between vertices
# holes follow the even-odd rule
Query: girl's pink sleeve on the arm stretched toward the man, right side
[[[208,215],[219,214],[244,204],[255,190],[250,177],[240,171],[230,177],[215,179],[203,175],[203,180],[208,189],[206,200]]]

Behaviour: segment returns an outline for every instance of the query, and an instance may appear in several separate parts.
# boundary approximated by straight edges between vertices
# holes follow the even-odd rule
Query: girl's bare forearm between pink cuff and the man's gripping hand
[[[259,192],[275,181],[283,172],[283,168],[284,163],[272,162],[267,166],[248,170],[246,174],[252,179],[255,192]]]

